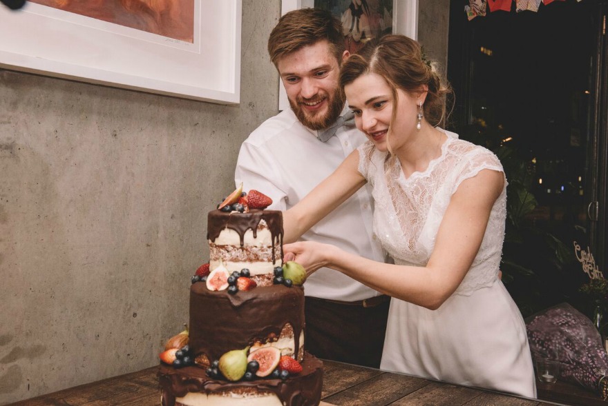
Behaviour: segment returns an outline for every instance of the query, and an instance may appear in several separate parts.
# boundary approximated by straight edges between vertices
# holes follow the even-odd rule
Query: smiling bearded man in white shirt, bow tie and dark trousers
[[[339,88],[344,51],[340,21],[323,10],[285,14],[268,40],[270,58],[287,90],[290,110],[265,121],[240,148],[236,184],[287,210],[329,176],[365,136],[354,127]],[[384,261],[372,233],[372,197],[362,187],[302,236]],[[389,298],[321,268],[305,285],[305,347],[319,357],[379,367]]]

